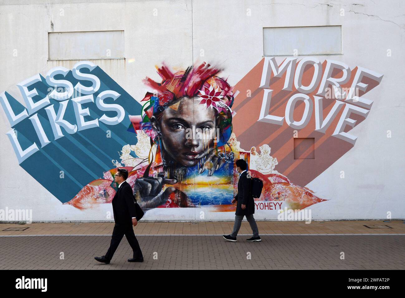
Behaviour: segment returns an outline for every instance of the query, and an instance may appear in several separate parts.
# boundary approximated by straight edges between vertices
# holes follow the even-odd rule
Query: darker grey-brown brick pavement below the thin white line
[[[94,256],[106,253],[111,236],[0,237],[0,269],[405,269],[405,237],[396,235],[137,238],[145,262],[127,262],[132,249],[124,237],[102,264]]]

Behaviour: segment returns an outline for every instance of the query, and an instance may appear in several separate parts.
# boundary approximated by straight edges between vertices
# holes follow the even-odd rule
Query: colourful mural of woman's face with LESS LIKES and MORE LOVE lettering
[[[136,101],[92,62],[55,67],[17,84],[25,106],[0,94],[6,134],[19,165],[83,212],[111,203],[118,167],[145,210],[232,212],[237,159],[264,182],[257,209],[325,204],[305,186],[355,145],[383,75],[313,57],[265,57],[236,84],[230,71],[162,62]]]

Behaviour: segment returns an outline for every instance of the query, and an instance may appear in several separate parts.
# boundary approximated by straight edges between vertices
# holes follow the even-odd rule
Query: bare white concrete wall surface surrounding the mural
[[[392,212],[392,218],[405,218],[405,3],[356,2],[0,1],[0,92],[55,66],[72,69],[77,61],[47,61],[48,32],[124,30],[126,59],[92,62],[140,100],[145,94],[142,79],[159,79],[155,65],[162,61],[179,68],[193,61],[216,62],[234,85],[262,59],[263,27],[341,25],[343,54],[317,58],[363,66],[384,74],[384,78],[368,93],[374,104],[367,120],[352,130],[360,136],[356,146],[307,185],[319,197],[329,199],[311,206],[312,216],[384,219]],[[387,56],[388,49],[391,56]],[[17,56],[13,56],[15,50]],[[62,206],[19,167],[5,135],[9,122],[5,116],[0,119],[0,209],[32,209],[34,221],[105,220],[105,212],[112,211],[111,204],[85,211]],[[391,138],[387,138],[388,130],[392,131]],[[339,178],[342,170],[345,179]],[[198,219],[197,211],[185,210],[167,219]],[[146,219],[165,219],[159,212],[162,210],[153,210]],[[232,217],[233,213],[218,214],[209,219]],[[276,219],[277,212],[258,212],[256,217]]]

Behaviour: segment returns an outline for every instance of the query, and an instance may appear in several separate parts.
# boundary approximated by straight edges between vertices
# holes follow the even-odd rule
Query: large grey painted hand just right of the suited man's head
[[[139,191],[141,199],[138,204],[142,209],[156,208],[164,203],[166,203],[169,195],[173,193],[176,188],[168,187],[163,193],[162,191],[164,184],[175,184],[176,179],[166,179],[162,177],[142,177],[135,181],[135,189]]]

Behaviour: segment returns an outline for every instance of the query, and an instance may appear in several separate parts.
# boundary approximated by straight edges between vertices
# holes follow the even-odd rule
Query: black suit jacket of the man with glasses
[[[119,224],[132,224],[132,217],[136,217],[134,193],[128,182],[122,182],[113,197],[114,221]]]

